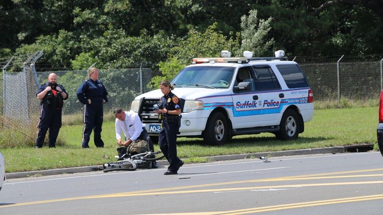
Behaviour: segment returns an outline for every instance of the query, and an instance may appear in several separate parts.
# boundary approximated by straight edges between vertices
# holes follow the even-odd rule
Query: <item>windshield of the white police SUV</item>
[[[228,88],[234,73],[233,67],[187,67],[172,80],[175,87]]]

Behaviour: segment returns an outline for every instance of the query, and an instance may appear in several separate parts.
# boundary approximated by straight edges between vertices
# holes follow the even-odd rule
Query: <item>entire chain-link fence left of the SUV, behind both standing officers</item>
[[[24,63],[22,71],[12,69],[7,72],[3,68],[0,77],[2,83],[0,85],[0,129],[2,131],[0,140],[3,139],[1,136],[13,136],[14,133],[29,137],[29,140],[35,138],[41,110],[36,91],[39,85],[47,81],[51,72],[57,74],[57,82],[62,84],[69,94],[68,99],[64,101],[63,121],[74,121],[76,124],[82,122],[84,105],[77,99],[76,92],[80,84],[89,78],[88,72],[86,70],[36,72],[33,62],[29,63]],[[145,66],[99,70],[99,79],[108,92],[108,102],[104,105],[104,113],[111,113],[116,107],[128,110],[130,103],[137,95],[152,90],[148,88],[148,84],[153,76],[159,75],[159,71],[153,65]],[[17,69],[20,70],[20,68]]]

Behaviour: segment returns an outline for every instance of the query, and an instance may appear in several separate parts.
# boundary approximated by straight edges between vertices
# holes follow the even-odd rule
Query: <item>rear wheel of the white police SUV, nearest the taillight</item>
[[[287,109],[282,116],[280,131],[276,137],[281,140],[295,140],[299,134],[299,117],[296,111]]]

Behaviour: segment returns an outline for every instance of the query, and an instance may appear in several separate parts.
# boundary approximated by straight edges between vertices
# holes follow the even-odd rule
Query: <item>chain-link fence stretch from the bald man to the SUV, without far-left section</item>
[[[80,84],[89,78],[88,72],[85,70],[37,72],[40,84],[47,81],[51,72],[57,74],[57,82],[62,84],[69,94],[68,99],[64,101],[63,115],[82,114],[84,105],[77,99],[76,92]],[[140,67],[99,70],[98,78],[108,92],[108,102],[104,104],[104,112],[111,112],[116,107],[126,110],[130,108],[130,103],[137,95],[152,90],[148,88],[148,83],[158,74],[158,69]]]

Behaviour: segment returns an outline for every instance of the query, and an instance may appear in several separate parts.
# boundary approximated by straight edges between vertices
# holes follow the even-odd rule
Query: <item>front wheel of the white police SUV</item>
[[[221,112],[213,112],[207,119],[203,131],[203,141],[212,145],[223,145],[228,133],[226,117]]]

